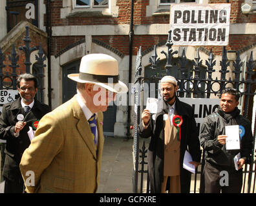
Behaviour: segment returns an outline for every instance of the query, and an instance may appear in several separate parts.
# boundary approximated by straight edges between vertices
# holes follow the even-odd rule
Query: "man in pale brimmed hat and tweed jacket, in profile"
[[[80,72],[68,75],[77,94],[41,118],[35,138],[23,154],[21,173],[34,171],[26,192],[96,192],[103,151],[103,111],[126,93],[118,61],[103,53],[85,55]]]

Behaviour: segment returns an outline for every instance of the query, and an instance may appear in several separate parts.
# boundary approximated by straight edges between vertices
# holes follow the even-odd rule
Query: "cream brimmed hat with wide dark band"
[[[71,73],[69,79],[92,83],[114,93],[127,93],[127,86],[119,80],[118,61],[103,53],[91,53],[81,59],[79,73]]]

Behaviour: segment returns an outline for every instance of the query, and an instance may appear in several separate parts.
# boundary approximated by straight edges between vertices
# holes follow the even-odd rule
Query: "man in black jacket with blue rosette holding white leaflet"
[[[220,97],[217,111],[204,119],[200,131],[200,144],[205,153],[204,192],[240,193],[242,187],[242,166],[250,160],[253,136],[250,121],[240,115],[237,108],[239,93],[226,88]],[[240,149],[226,149],[225,126],[239,125]],[[234,157],[240,153],[235,169]],[[222,180],[223,178],[223,180]]]

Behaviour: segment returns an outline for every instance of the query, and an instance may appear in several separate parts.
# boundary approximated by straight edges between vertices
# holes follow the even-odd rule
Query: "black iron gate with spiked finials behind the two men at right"
[[[142,51],[141,47],[138,51],[136,57],[136,71],[135,71],[135,80],[134,80],[134,142],[133,142],[133,158],[134,158],[134,168],[133,168],[133,192],[149,192],[149,174],[147,171],[147,147],[145,140],[142,143],[142,147],[140,148],[140,139],[138,136],[138,126],[140,124],[140,117],[144,107],[144,82],[157,82],[164,75],[171,75],[172,66],[172,59],[173,56],[178,53],[178,51],[173,51],[172,46],[173,43],[171,41],[171,30],[169,31],[168,39],[165,44],[167,46],[167,52],[162,51],[166,57],[166,64],[165,64],[165,72],[160,71],[161,68],[158,67],[160,62],[160,58],[156,53],[156,46],[153,51],[152,57],[150,57],[149,62],[151,63],[151,70],[153,75],[151,77],[144,77],[142,76]],[[193,68],[187,68],[187,58],[185,49],[182,52],[179,61],[179,68],[180,70],[180,77],[176,77],[178,80],[178,97],[204,97],[210,98],[211,95],[217,96],[220,95],[222,89],[226,87],[233,87],[239,90],[240,99],[244,99],[243,104],[243,115],[244,117],[248,117],[248,108],[249,108],[249,100],[250,97],[255,95],[255,91],[253,88],[256,86],[256,80],[253,80],[253,68],[255,67],[256,61],[253,61],[253,54],[251,52],[250,58],[246,63],[246,78],[240,78],[240,73],[242,73],[242,65],[243,62],[240,59],[240,54],[237,52],[237,59],[232,62],[234,70],[235,78],[232,80],[231,78],[226,79],[226,74],[229,72],[228,66],[230,62],[228,61],[228,55],[226,51],[226,47],[222,49],[222,61],[220,61],[221,69],[220,72],[220,79],[213,79],[212,74],[215,72],[214,66],[216,64],[215,57],[212,51],[209,52],[208,61],[206,60],[206,74],[207,79],[202,78],[200,75],[200,66],[202,66],[202,60],[199,56],[199,48],[197,49],[197,55],[193,62]],[[187,73],[192,72],[195,75],[190,77],[186,75]],[[242,88],[242,89],[241,89]],[[158,90],[158,87],[154,87],[153,89]],[[149,89],[149,93],[147,97],[150,97],[152,94],[152,89]],[[151,91],[151,92],[150,92]],[[157,93],[157,91],[155,92]],[[153,94],[155,94],[153,92]],[[155,98],[155,97],[154,97]],[[254,128],[254,129],[253,129]],[[198,128],[199,129],[199,128]],[[255,145],[255,133],[256,133],[256,121],[253,129],[253,145]],[[204,154],[204,152],[202,153]],[[256,161],[253,161],[255,156],[254,147],[251,156],[251,164],[245,165],[244,167],[244,184],[242,187],[242,192],[254,192],[255,191],[255,178],[256,178],[256,169],[255,164]],[[197,192],[197,185],[201,184],[200,175],[202,173],[202,168],[204,166],[204,156],[202,155],[201,158],[201,165],[197,168],[196,173],[192,175],[191,178],[191,187],[193,188],[193,192]],[[198,180],[199,179],[199,180]],[[140,180],[140,181],[139,181]],[[139,183],[140,182],[140,183]],[[247,190],[247,191],[246,191]]]

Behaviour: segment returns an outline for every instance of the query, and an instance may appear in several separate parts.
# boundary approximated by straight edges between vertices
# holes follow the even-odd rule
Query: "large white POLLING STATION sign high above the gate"
[[[179,46],[226,46],[230,4],[171,5],[171,40]]]

